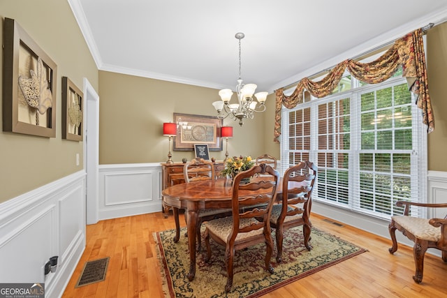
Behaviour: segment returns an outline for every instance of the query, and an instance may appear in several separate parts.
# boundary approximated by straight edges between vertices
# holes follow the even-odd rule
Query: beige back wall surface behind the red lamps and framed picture
[[[212,102],[219,100],[218,92],[188,84],[100,71],[99,163],[166,161],[168,138],[162,135],[163,122],[173,121],[174,112],[215,116]],[[271,151],[265,151],[266,143],[273,144],[273,127],[266,127],[273,123],[273,119],[268,119],[274,117],[273,108],[274,97],[270,96],[268,112],[245,120],[244,126],[231,119],[223,120],[223,125],[233,126],[233,138],[228,140],[230,156],[256,157],[268,152],[279,157],[277,144],[270,148]],[[172,153],[173,161],[191,160],[194,156],[193,151]],[[222,151],[210,151],[210,156],[223,160],[225,142]]]

